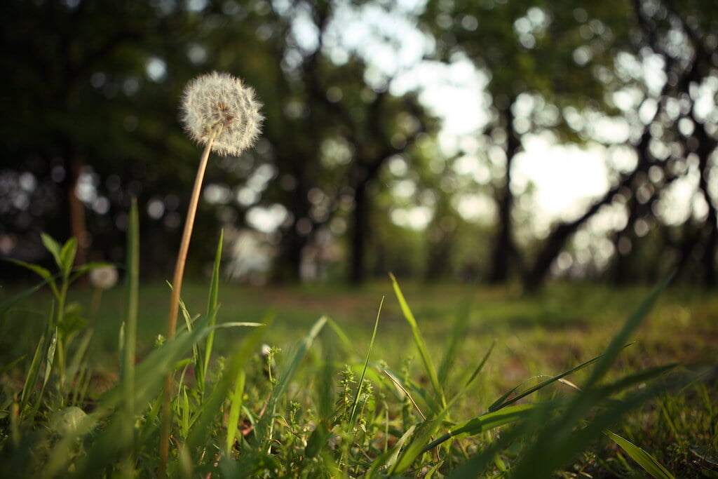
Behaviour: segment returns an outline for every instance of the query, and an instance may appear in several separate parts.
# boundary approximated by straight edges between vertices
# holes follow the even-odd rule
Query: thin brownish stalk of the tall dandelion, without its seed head
[[[169,318],[167,320],[167,340],[174,338],[174,332],[177,330],[177,314],[180,312],[180,293],[182,292],[182,279],[185,276],[185,264],[187,263],[187,251],[190,249],[190,239],[192,238],[192,228],[195,225],[195,215],[197,214],[197,205],[200,203],[200,190],[202,190],[202,181],[205,177],[205,169],[207,169],[210,151],[215,138],[222,129],[222,125],[216,125],[210,138],[205,145],[205,151],[200,159],[200,167],[197,168],[197,177],[195,177],[195,186],[192,189],[192,198],[190,199],[190,208],[187,210],[187,219],[185,220],[185,230],[182,232],[182,242],[180,243],[180,251],[177,254],[177,264],[174,266],[174,278],[172,279],[172,297],[169,299]],[[167,477],[167,460],[169,459],[169,429],[172,421],[170,395],[172,393],[172,371],[167,373],[164,381],[164,393],[162,398],[162,432],[159,437],[159,470],[160,478]]]

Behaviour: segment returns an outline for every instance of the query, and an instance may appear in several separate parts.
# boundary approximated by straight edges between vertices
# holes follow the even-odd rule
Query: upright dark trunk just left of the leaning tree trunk
[[[513,210],[513,193],[511,192],[511,166],[513,158],[521,147],[521,139],[513,130],[513,113],[510,106],[505,112],[506,119],[506,172],[505,184],[498,191],[498,232],[494,238],[491,258],[491,271],[489,281],[494,284],[506,282],[509,278],[511,262],[516,256],[516,245],[513,243],[513,221],[511,211]]]

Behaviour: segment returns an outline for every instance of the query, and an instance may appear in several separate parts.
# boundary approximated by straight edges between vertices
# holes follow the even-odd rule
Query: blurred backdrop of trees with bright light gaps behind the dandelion
[[[6,0],[0,17],[3,256],[42,261],[47,231],[77,236],[79,261],[121,261],[138,197],[143,272],[168,276],[200,154],[180,96],[223,70],[266,120],[255,149],[210,163],[197,272],[223,227],[248,281],[394,271],[535,289],[679,268],[716,284],[713,1]],[[488,119],[452,149],[416,78],[462,63]],[[542,231],[513,175],[532,137],[600,148],[610,176]]]

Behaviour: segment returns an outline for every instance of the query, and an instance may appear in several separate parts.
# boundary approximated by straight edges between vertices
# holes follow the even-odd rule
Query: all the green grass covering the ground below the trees
[[[0,475],[154,477],[170,368],[173,477],[718,475],[715,295],[220,282],[215,308],[210,284],[185,284],[192,330],[162,346],[169,287],[139,285],[135,365],[131,284],[96,313],[87,287],[4,311]]]

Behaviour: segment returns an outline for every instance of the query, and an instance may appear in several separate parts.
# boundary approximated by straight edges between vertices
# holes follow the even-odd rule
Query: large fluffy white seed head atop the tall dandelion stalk
[[[215,128],[215,153],[238,156],[251,147],[264,119],[251,87],[228,73],[209,73],[187,84],[182,98],[182,123],[190,137],[206,144]]]

